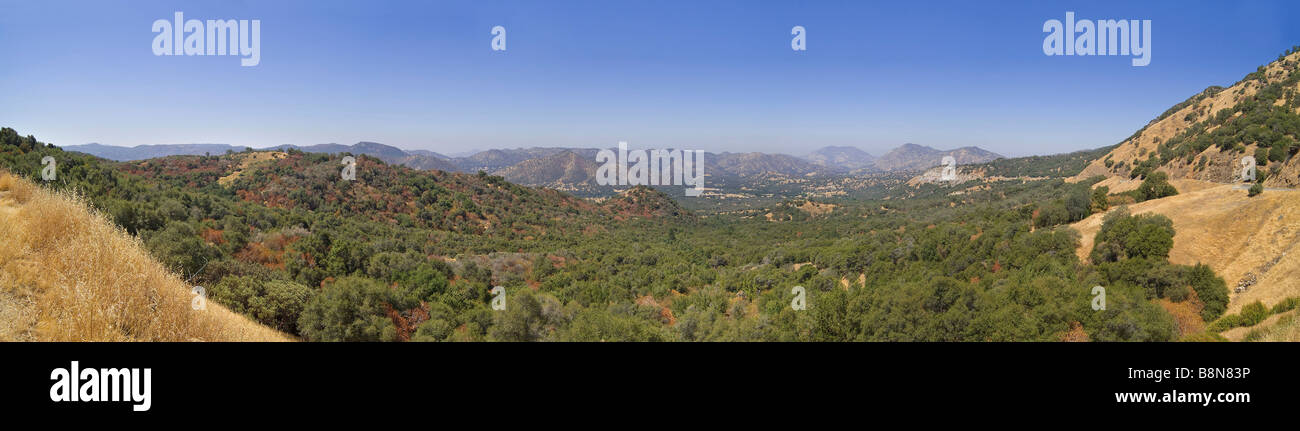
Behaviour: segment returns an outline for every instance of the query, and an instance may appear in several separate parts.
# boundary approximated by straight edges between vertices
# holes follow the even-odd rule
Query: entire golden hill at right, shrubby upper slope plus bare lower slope
[[[1130,205],[1174,222],[1178,235],[1170,252],[1175,264],[1202,262],[1232,288],[1228,313],[1256,301],[1275,306],[1300,296],[1300,48],[1292,48],[1230,87],[1212,86],[1169,108],[1132,136],[1092,160],[1069,180],[1105,179],[1112,196],[1138,188],[1150,173],[1165,173],[1179,193]],[[1257,162],[1256,182],[1268,186],[1248,196],[1243,158]],[[1087,257],[1095,214],[1074,225],[1083,234],[1079,256]],[[1278,322],[1278,323],[1274,323]],[[1294,319],[1258,339],[1296,340]],[[1240,340],[1254,328],[1225,331]]]

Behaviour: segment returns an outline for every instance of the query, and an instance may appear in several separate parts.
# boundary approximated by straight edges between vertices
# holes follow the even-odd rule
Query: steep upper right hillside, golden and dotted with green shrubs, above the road
[[[1270,187],[1300,186],[1300,51],[1292,48],[1231,87],[1209,87],[1169,108],[1088,164],[1075,179],[1093,175],[1238,182],[1243,157],[1254,157]]]

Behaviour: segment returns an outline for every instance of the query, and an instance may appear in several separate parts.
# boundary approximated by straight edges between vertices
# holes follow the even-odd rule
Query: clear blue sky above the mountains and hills
[[[153,56],[176,10],[261,19],[261,64]],[[1066,10],[1152,19],[1150,65],[1045,56]],[[1300,44],[1295,22],[1295,1],[0,0],[0,125],[56,144],[1022,156],[1117,143]]]

